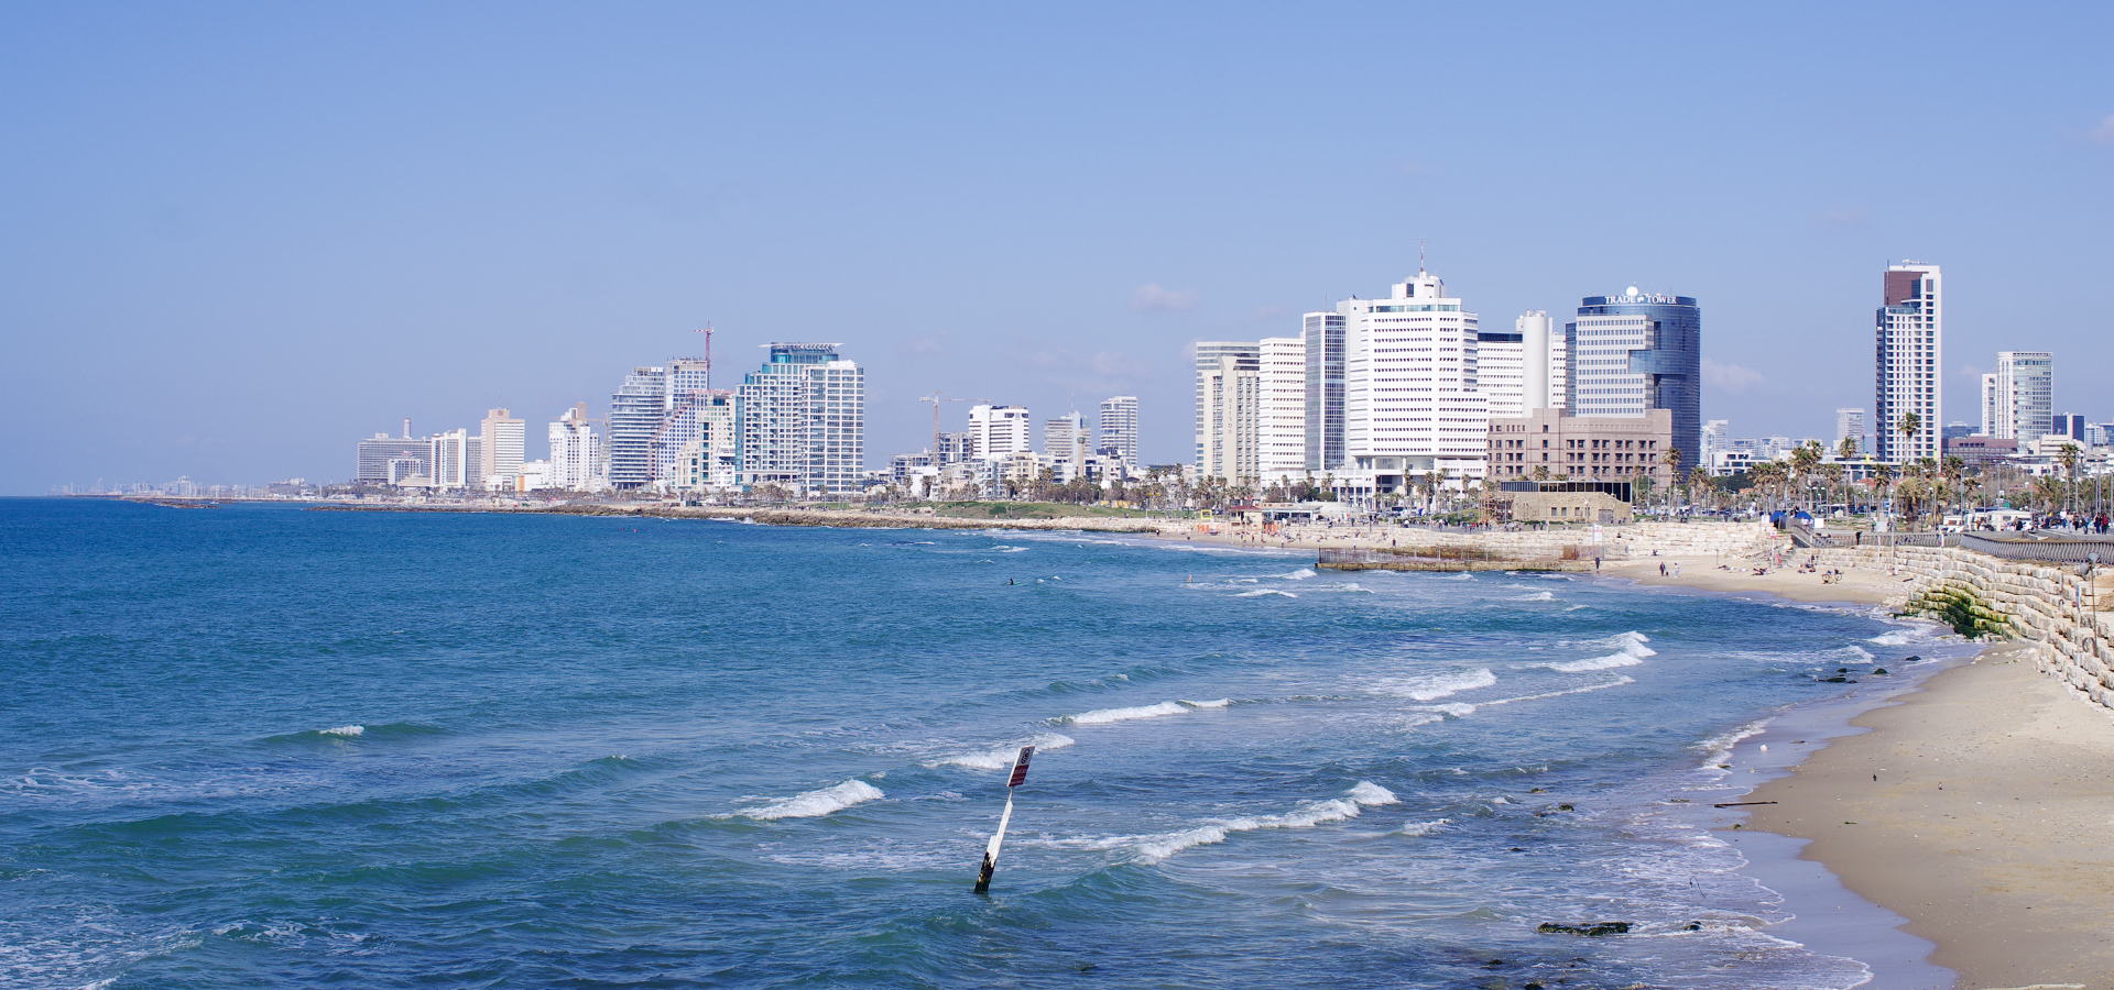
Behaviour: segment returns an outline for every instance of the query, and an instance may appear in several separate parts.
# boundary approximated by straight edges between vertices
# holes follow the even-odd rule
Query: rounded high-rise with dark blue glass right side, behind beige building
[[[1702,308],[1689,296],[1588,296],[1564,323],[1564,399],[1573,416],[1674,414],[1674,450],[1702,462]]]

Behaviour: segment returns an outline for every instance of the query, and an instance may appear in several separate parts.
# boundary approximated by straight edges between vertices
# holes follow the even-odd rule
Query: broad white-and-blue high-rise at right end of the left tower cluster
[[[867,456],[867,369],[839,344],[769,344],[738,391],[742,481],[856,494]]]

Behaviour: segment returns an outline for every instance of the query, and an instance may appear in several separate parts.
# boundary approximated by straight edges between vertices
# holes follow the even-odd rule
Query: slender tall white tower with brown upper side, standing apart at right
[[[1934,264],[1890,264],[1877,310],[1873,452],[1905,464],[1936,458],[1945,422],[1945,308]],[[1911,420],[1913,416],[1913,420]],[[1909,426],[1915,426],[1909,431]]]

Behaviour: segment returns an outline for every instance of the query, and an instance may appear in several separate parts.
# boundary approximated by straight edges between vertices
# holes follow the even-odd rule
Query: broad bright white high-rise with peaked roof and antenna
[[[1383,458],[1364,467],[1391,477],[1480,475],[1490,405],[1476,378],[1476,315],[1429,272],[1395,283],[1385,300],[1338,302],[1336,312],[1349,321],[1345,460]]]

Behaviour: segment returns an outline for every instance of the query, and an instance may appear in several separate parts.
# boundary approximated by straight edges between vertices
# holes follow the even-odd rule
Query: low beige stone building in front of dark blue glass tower
[[[1533,410],[1526,416],[1490,418],[1490,475],[1499,481],[1630,481],[1651,477],[1655,488],[1672,481],[1666,452],[1674,445],[1674,414],[1647,410],[1643,416],[1564,416],[1562,410]],[[1693,464],[1683,464],[1689,469]],[[1547,469],[1537,475],[1535,469]]]

